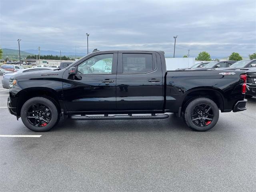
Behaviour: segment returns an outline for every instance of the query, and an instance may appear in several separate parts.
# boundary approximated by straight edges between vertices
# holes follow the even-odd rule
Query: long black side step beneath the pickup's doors
[[[122,120],[122,119],[166,119],[168,118],[168,114],[155,115],[151,116],[132,116],[129,115],[114,115],[114,116],[80,116],[80,115],[70,115],[70,119],[72,120]]]

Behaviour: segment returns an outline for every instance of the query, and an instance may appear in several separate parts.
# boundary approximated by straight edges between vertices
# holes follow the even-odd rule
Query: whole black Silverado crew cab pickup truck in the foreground
[[[247,101],[246,72],[166,71],[161,51],[96,51],[64,69],[19,74],[10,83],[10,113],[39,132],[60,118],[163,119],[168,113],[206,131],[219,110],[246,110]]]

